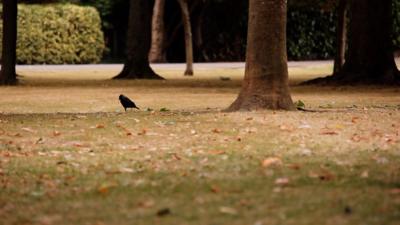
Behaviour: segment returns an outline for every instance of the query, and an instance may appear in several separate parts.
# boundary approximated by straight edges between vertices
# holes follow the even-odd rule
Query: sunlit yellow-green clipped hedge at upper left
[[[93,7],[72,4],[20,4],[17,62],[97,63],[101,60],[105,48],[100,24],[99,14]],[[2,23],[0,29],[2,30]],[[1,35],[2,32],[0,38]]]

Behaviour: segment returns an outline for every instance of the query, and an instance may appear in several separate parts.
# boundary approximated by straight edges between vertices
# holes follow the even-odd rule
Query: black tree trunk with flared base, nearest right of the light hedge
[[[163,79],[149,64],[153,5],[152,0],[130,0],[126,61],[114,79]]]

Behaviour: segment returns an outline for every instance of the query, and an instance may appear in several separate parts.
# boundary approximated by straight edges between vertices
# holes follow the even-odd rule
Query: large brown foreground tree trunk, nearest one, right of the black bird
[[[242,90],[227,111],[293,110],[288,85],[286,0],[252,0]]]

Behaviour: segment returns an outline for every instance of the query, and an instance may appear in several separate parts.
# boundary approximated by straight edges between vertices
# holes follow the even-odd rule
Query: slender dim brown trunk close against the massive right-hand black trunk
[[[336,54],[333,73],[340,71],[344,64],[347,39],[347,0],[340,0],[336,31]]]

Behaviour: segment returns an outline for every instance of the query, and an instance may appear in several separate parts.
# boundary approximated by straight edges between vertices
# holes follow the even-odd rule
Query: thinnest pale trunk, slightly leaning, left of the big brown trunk
[[[185,76],[193,76],[193,41],[190,25],[190,13],[187,0],[178,0],[182,11],[183,29],[185,31],[186,70]]]

